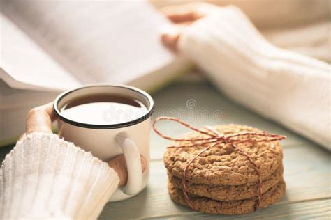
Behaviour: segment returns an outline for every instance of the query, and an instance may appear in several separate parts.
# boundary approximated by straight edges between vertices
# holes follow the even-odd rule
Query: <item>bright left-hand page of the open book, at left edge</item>
[[[9,86],[61,91],[80,85],[78,79],[66,72],[6,16],[0,14],[0,20],[0,78]]]

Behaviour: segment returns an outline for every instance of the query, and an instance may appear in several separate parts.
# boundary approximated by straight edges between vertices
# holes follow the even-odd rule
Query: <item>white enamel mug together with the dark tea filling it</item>
[[[61,93],[54,101],[59,136],[104,162],[124,154],[128,182],[110,201],[130,198],[147,185],[153,107],[154,101],[145,91],[118,84],[82,86]],[[144,173],[140,155],[147,162]]]

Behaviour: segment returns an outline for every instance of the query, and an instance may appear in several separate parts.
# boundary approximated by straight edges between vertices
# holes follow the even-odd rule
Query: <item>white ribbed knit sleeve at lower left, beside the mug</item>
[[[29,134],[1,166],[0,219],[96,219],[118,183],[90,152],[55,134]]]

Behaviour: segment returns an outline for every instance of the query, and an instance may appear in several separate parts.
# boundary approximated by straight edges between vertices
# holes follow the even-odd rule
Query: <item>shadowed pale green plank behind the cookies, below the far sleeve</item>
[[[156,118],[156,116],[173,116],[196,127],[227,123],[251,125],[270,133],[288,136],[288,139],[282,141],[285,147],[302,143],[311,144],[307,139],[284,129],[281,125],[266,120],[258,114],[231,102],[207,83],[172,84],[154,95],[154,100],[156,107],[153,118]],[[191,104],[193,103],[193,107],[187,107],[186,102],[189,100],[191,100]],[[216,116],[218,111],[221,111],[220,116]],[[170,136],[178,136],[188,132],[188,129],[176,123],[160,122],[158,127]],[[169,143],[169,141],[165,141],[154,132],[151,132],[151,157],[154,159],[161,158],[165,146]]]

